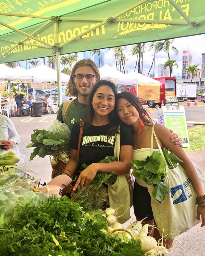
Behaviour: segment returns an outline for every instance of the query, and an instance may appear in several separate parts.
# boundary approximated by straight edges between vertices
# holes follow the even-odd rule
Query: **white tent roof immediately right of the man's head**
[[[99,68],[100,78],[105,80],[111,80],[117,85],[132,85],[136,83],[133,79],[129,79],[125,74],[105,64],[102,68]]]

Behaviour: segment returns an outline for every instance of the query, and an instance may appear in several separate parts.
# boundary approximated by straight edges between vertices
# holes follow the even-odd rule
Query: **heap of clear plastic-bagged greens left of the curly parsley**
[[[0,174],[0,225],[12,219],[17,205],[31,202],[35,206],[46,199],[44,194],[32,191],[32,185],[39,181],[26,163]]]

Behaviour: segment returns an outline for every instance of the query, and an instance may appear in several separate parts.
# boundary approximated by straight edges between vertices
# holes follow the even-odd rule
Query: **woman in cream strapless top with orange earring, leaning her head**
[[[143,106],[138,98],[129,92],[122,92],[118,94],[117,111],[120,120],[127,125],[131,125],[132,127],[134,138],[133,159],[144,160],[147,156],[152,154],[151,135],[153,133],[153,123],[149,117],[148,112],[143,109]],[[173,152],[179,159],[183,161],[180,164],[184,168],[187,176],[192,181],[197,197],[205,197],[201,181],[195,171],[192,162],[188,159],[180,145],[176,145],[171,142],[171,132],[166,127],[159,124],[154,125],[154,132],[159,141],[160,147],[168,148],[170,152]],[[153,150],[159,150],[155,138],[153,138],[152,146]],[[147,191],[147,187],[143,186],[141,180],[135,179],[135,187],[133,191],[133,206],[135,216],[138,220],[148,216],[144,223],[153,225],[154,219],[150,201],[151,197]],[[200,219],[200,216],[202,221],[201,227],[203,227],[205,226],[205,202],[198,204],[198,220]],[[173,240],[167,240],[166,246],[171,246],[172,242]]]

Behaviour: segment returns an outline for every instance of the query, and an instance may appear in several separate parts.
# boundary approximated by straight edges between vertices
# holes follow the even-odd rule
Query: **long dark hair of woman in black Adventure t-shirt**
[[[85,118],[85,128],[89,127],[93,122],[94,108],[93,108],[93,105],[92,105],[91,102],[93,101],[94,94],[98,90],[99,87],[105,86],[105,85],[109,86],[111,88],[111,90],[113,91],[114,96],[115,96],[115,107],[114,107],[113,111],[111,111],[111,113],[109,114],[109,122],[111,124],[111,127],[108,131],[108,137],[110,137],[112,135],[115,135],[115,133],[118,130],[119,123],[120,123],[120,120],[119,120],[119,117],[118,117],[118,114],[117,114],[117,111],[116,111],[116,107],[117,107],[117,105],[116,105],[117,104],[117,89],[116,89],[115,84],[111,81],[101,79],[101,80],[99,80],[95,83],[95,85],[94,85],[94,87],[91,91],[88,104],[87,104],[86,118]]]

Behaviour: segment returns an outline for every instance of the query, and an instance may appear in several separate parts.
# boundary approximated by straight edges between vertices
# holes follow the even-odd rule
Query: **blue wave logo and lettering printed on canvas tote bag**
[[[173,200],[173,204],[184,202],[188,198],[192,197],[193,196],[192,190],[193,190],[193,185],[189,178],[185,180],[182,185],[180,184],[178,186],[171,187],[170,188],[171,198],[173,199],[174,195],[178,196],[178,197],[175,196]]]

